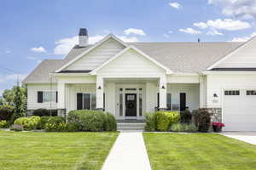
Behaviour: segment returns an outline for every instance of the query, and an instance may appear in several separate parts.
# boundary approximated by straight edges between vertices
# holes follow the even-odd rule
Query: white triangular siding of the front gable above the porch
[[[130,49],[113,61],[104,65],[98,71],[103,75],[137,75],[137,74],[162,74],[164,69],[155,65],[154,62],[138,54],[135,50]]]

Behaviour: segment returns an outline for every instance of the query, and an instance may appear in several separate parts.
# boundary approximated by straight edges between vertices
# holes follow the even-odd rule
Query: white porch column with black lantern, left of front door
[[[104,81],[100,76],[96,77],[96,109],[103,111]]]

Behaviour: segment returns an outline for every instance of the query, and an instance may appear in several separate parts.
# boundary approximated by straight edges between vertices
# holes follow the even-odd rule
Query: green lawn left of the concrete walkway
[[[0,131],[0,169],[101,169],[119,133]]]

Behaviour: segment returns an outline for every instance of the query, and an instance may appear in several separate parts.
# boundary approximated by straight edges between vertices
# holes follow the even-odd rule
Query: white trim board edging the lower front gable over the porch
[[[108,65],[108,63],[110,63],[111,61],[113,61],[114,59],[119,58],[119,56],[121,56],[122,54],[125,54],[125,52],[127,52],[128,50],[133,49],[135,50],[138,54],[141,54],[143,57],[145,57],[146,59],[149,59],[150,61],[152,61],[155,65],[158,65],[160,68],[164,69],[166,71],[166,74],[172,74],[172,71],[170,69],[168,69],[166,66],[161,65],[158,61],[152,59],[151,57],[149,57],[147,54],[144,54],[141,50],[133,47],[133,46],[129,46],[127,48],[124,48],[122,51],[120,51],[118,54],[116,54],[115,56],[113,56],[112,58],[108,59],[106,62],[104,62],[102,65],[99,65],[98,67],[96,67],[95,70],[91,71],[90,74],[91,75],[96,75],[96,72],[99,71],[100,69],[102,69],[102,67],[104,67],[105,65]]]

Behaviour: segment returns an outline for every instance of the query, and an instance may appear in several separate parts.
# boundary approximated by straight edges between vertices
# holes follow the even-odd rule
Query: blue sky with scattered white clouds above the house
[[[130,42],[226,42],[253,37],[255,19],[255,0],[3,0],[0,95],[15,74],[24,78],[41,60],[62,59],[80,27],[90,43],[110,32]]]

